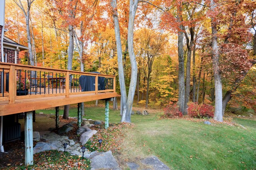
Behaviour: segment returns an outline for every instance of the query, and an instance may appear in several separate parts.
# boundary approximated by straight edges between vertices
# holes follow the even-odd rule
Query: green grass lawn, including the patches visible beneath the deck
[[[54,110],[42,112],[54,113]],[[104,120],[103,107],[86,107],[85,114],[87,119]],[[70,116],[76,115],[77,110],[70,109]],[[120,111],[110,109],[109,119],[110,123],[119,122]],[[128,149],[124,148],[124,152],[132,156],[156,155],[172,169],[256,169],[256,121],[238,118],[234,121],[247,129],[158,119],[154,113],[132,115],[136,127],[127,131],[124,147]]]

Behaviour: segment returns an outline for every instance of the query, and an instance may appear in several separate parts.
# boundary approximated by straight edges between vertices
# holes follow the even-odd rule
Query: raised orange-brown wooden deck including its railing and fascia
[[[11,63],[0,63],[0,72],[0,116],[118,96],[115,76],[106,74]],[[32,73],[34,73],[34,76],[32,76]],[[51,79],[47,78],[49,76],[51,76]],[[95,90],[82,92],[79,86],[80,76],[94,77],[95,84],[99,83],[99,77],[103,77],[106,83],[104,90],[98,90],[98,86],[94,84]],[[29,84],[26,84],[26,86],[30,86],[28,95],[17,96],[17,81],[22,82],[26,79],[29,80]],[[69,83],[63,84],[63,79]],[[36,84],[36,87],[32,88],[35,86],[34,84]]]

